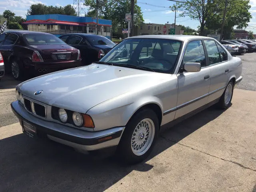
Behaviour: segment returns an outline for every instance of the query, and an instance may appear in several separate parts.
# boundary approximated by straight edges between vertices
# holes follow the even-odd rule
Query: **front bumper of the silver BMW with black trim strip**
[[[11,107],[21,125],[23,121],[26,121],[36,127],[37,134],[44,134],[51,140],[78,150],[91,151],[117,146],[125,128],[122,126],[90,132],[37,118],[28,113],[18,101],[12,102]]]

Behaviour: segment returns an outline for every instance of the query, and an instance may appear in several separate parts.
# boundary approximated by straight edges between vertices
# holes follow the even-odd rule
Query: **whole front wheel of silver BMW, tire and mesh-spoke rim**
[[[128,122],[118,145],[121,160],[134,164],[145,160],[156,142],[159,121],[154,111],[145,109]]]

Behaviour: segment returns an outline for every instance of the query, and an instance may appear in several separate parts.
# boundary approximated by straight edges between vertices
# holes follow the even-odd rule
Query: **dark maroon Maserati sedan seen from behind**
[[[80,66],[80,51],[55,35],[43,32],[10,31],[0,35],[0,52],[6,72],[15,79],[42,75]]]

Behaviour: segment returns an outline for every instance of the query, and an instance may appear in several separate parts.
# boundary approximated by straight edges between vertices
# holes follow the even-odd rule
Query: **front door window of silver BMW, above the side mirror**
[[[201,67],[206,66],[204,46],[201,40],[191,41],[187,44],[183,58],[183,64],[185,63],[200,63]]]

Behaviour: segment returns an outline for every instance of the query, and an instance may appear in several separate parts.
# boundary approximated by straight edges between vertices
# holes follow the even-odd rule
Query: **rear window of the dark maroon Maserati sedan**
[[[64,45],[64,41],[52,34],[33,34],[28,33],[23,35],[29,45]]]

